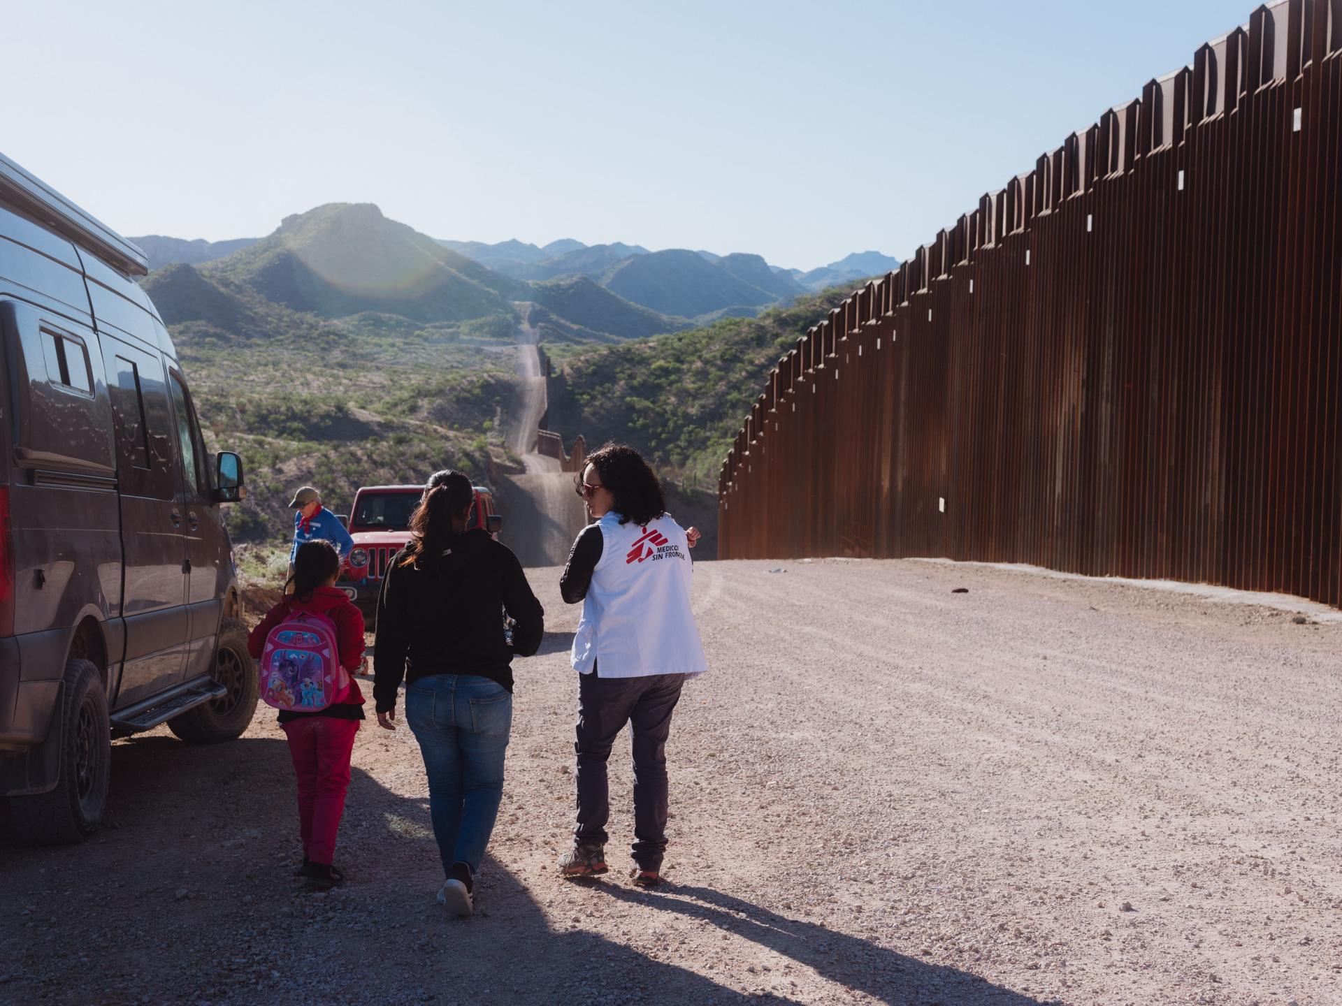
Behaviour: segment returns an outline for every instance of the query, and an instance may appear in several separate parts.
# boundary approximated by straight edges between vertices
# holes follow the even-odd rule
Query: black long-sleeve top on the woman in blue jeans
[[[399,553],[377,598],[373,700],[396,708],[401,679],[479,675],[513,691],[513,656],[541,647],[545,609],[507,546],[474,528],[451,539],[436,558],[404,566]],[[503,637],[511,616],[513,645]]]

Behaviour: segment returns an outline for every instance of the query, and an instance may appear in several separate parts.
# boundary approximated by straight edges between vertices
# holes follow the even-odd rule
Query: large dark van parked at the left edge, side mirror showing
[[[111,738],[242,734],[256,707],[211,457],[148,263],[0,156],[0,799],[16,837],[97,828]]]

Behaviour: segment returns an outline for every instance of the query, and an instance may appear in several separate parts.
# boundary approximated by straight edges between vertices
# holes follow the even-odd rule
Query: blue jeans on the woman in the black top
[[[405,722],[424,755],[443,872],[464,862],[475,873],[503,798],[513,695],[475,675],[421,677],[405,687]]]

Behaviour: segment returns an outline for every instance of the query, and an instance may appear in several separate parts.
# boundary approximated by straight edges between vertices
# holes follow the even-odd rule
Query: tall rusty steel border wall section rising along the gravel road
[[[723,558],[947,557],[1342,601],[1342,0],[1067,137],[769,374]]]

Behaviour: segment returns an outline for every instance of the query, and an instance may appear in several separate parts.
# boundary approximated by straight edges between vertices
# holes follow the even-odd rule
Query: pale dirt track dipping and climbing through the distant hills
[[[525,319],[525,304],[522,317]],[[535,452],[535,431],[545,414],[545,377],[535,345],[535,330],[525,321],[518,327],[518,408],[509,428],[509,447],[526,465],[525,475],[498,479],[503,531],[507,545],[523,566],[562,563],[585,523],[582,502],[573,492],[573,476],[560,463]]]

